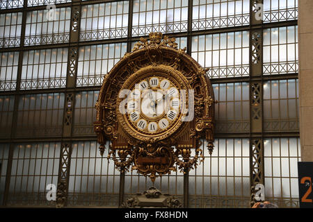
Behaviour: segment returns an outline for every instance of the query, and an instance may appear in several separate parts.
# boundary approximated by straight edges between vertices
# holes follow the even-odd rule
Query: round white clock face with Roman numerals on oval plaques
[[[127,97],[127,119],[143,134],[159,134],[179,119],[179,89],[168,78],[151,75],[137,81]]]

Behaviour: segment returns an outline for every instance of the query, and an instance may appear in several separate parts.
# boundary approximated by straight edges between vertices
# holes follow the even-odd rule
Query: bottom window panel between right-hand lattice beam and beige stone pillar
[[[280,207],[299,207],[300,138],[264,139],[265,198]]]

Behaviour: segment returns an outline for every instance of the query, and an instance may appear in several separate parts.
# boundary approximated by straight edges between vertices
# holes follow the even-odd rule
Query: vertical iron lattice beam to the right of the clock
[[[250,197],[255,203],[255,185],[264,185],[263,143],[263,21],[257,19],[257,4],[263,0],[250,1],[250,24],[261,28],[250,29]]]

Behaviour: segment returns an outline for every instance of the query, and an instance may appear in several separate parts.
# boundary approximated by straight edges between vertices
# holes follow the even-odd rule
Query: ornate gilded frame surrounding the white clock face
[[[188,56],[186,48],[177,49],[175,38],[162,33],[150,33],[149,37],[150,40],[141,37],[131,53],[125,53],[104,77],[95,105],[94,129],[101,155],[106,141],[111,142],[108,158],[114,161],[117,169],[137,170],[154,181],[157,176],[175,171],[174,164],[184,173],[197,167],[204,158],[200,149],[201,138],[207,140],[209,153],[213,152],[216,101],[207,76],[208,69],[203,69]],[[186,109],[191,106],[188,90],[193,90],[194,118],[191,121],[177,121],[158,135],[134,130],[134,126],[127,121],[127,115],[119,110],[124,98],[118,95],[122,89],[130,89],[136,80],[150,74],[164,75],[175,83],[177,89],[186,90]],[[188,114],[181,112],[179,119]],[[192,149],[195,150],[193,157]],[[174,202],[170,205],[175,205]],[[134,205],[134,202],[130,201],[129,205]]]

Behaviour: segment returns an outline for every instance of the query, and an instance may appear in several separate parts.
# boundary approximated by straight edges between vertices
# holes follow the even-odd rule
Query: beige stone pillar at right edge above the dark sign
[[[300,143],[303,162],[313,162],[313,1],[298,1]]]

